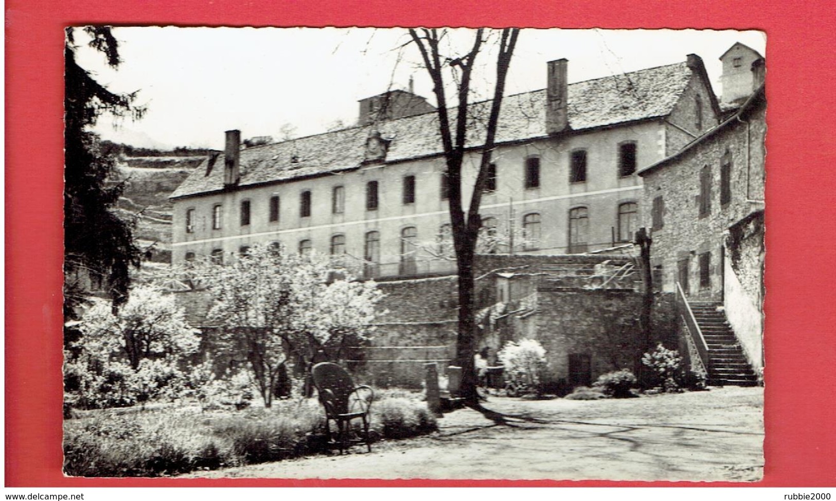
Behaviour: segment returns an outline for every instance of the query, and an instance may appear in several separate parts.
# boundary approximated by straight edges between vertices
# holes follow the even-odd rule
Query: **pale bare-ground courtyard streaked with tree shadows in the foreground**
[[[502,417],[461,409],[439,419],[439,431],[431,436],[379,442],[370,453],[353,447],[344,456],[187,477],[733,482],[762,477],[762,388],[598,401],[492,396],[485,407]]]

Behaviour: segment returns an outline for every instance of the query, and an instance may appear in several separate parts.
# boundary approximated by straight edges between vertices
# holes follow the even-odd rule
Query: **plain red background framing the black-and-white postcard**
[[[757,5],[757,6],[756,6]],[[63,28],[69,24],[739,28],[767,32],[766,468],[763,486],[836,486],[833,189],[827,2],[626,0],[7,0],[6,485],[700,485],[697,483],[84,479],[61,473]],[[649,48],[651,49],[651,48]],[[828,141],[829,140],[829,141]],[[559,444],[555,444],[559,447]],[[706,485],[706,484],[703,484]],[[710,483],[728,486],[734,483]],[[752,485],[752,484],[748,484]]]

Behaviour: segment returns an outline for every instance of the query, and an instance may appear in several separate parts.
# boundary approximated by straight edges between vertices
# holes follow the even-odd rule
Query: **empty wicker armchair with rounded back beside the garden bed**
[[[322,362],[311,370],[314,386],[319,393],[319,401],[325,408],[325,431],[331,438],[331,422],[337,423],[339,453],[350,447],[351,443],[365,443],[371,452],[369,420],[371,402],[375,391],[370,386],[354,386],[351,376],[344,368],[331,362]],[[363,422],[363,429],[352,437],[352,420]]]

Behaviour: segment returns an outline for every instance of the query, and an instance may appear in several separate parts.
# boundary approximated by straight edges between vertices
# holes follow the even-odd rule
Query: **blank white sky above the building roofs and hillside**
[[[456,29],[446,54],[472,43]],[[79,64],[115,92],[139,91],[141,120],[103,116],[95,131],[133,146],[223,149],[224,131],[242,138],[318,134],[353,125],[357,101],[387,89],[408,89],[435,104],[421,56],[403,28],[114,28],[122,64],[79,48]],[[492,38],[495,40],[494,38]],[[83,38],[77,38],[81,43]],[[674,64],[701,56],[720,94],[721,54],[741,42],[765,53],[765,34],[733,30],[523,29],[506,95],[543,89],[546,63],[568,59],[569,83]],[[473,99],[492,92],[495,72],[487,43],[475,69]],[[450,92],[448,92],[448,95]]]

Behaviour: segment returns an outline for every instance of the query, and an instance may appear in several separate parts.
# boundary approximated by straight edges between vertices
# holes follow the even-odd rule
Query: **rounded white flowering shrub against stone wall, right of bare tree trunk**
[[[497,353],[497,358],[502,362],[502,366],[505,366],[503,375],[510,395],[542,395],[546,350],[539,341],[508,341]]]

